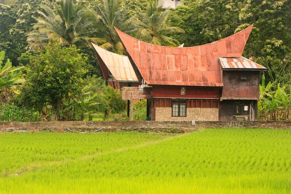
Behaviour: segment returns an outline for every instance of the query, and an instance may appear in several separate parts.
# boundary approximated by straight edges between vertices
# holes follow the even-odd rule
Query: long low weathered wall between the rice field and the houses
[[[291,121],[62,121],[0,122],[0,132],[116,132],[185,133],[199,128],[291,129]]]

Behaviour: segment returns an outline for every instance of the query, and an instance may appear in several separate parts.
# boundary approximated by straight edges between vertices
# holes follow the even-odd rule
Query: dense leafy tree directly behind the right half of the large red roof
[[[185,46],[197,46],[225,38],[243,24],[239,19],[243,0],[187,0],[174,12],[184,21],[185,34],[174,35]]]

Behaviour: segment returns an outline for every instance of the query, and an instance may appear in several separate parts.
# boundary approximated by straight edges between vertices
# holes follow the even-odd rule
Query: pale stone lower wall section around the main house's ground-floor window
[[[172,116],[172,108],[156,108],[156,121],[218,121],[219,109],[187,108],[187,116]]]

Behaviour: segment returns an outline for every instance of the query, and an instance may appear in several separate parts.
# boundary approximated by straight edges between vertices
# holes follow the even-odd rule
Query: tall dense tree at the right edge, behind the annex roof
[[[246,1],[240,12],[245,25],[254,23],[244,55],[268,68],[266,81],[291,84],[291,2]],[[241,27],[244,28],[245,25]],[[239,31],[241,28],[238,28]]]

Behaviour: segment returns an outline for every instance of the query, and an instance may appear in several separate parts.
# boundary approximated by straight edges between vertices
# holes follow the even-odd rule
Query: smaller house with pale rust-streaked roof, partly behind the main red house
[[[129,62],[129,58],[108,50],[102,49],[92,43],[104,79],[114,89],[124,86],[138,87],[139,81]]]

